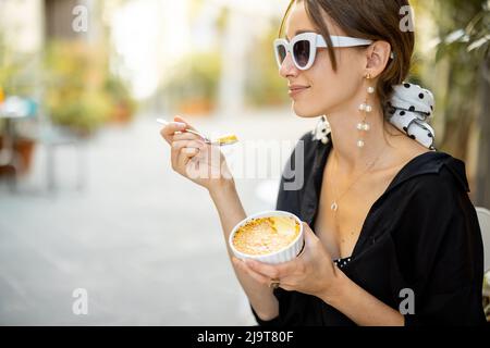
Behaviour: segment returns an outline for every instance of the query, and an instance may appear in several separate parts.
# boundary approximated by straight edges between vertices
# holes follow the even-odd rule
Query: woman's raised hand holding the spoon
[[[206,144],[195,134],[183,132],[185,129],[196,130],[184,119],[176,116],[174,122],[160,132],[171,146],[172,169],[209,191],[219,189],[223,183],[232,181],[220,148]]]

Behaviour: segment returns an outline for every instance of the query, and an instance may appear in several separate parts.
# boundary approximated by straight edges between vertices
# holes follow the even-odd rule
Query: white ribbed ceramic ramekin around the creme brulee
[[[236,231],[244,224],[246,224],[248,221],[258,217],[268,217],[268,216],[291,216],[294,217],[297,223],[299,224],[299,234],[296,236],[296,238],[285,248],[274,251],[272,253],[266,253],[266,254],[248,254],[241,252],[236,250],[236,248],[233,246],[233,236],[235,235]],[[286,211],[280,211],[280,210],[271,210],[271,211],[264,211],[254,215],[250,215],[244,220],[242,220],[231,232],[229,237],[229,245],[233,252],[233,254],[238,259],[250,259],[250,260],[257,260],[264,263],[270,263],[270,264],[278,264],[282,262],[287,262],[296,258],[299,252],[303,249],[304,245],[304,235],[303,235],[303,224],[302,221],[295,215]]]

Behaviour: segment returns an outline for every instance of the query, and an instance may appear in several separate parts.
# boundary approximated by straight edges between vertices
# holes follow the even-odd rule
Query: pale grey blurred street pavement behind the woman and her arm
[[[271,132],[297,139],[311,128],[287,109],[248,115],[240,126],[217,119],[196,124],[236,129],[242,139]],[[0,324],[255,323],[212,202],[171,170],[159,129],[154,116],[142,115],[83,146],[82,190],[72,148],[57,153],[53,194],[46,192],[42,148],[19,191],[0,187]],[[274,208],[278,179],[236,182],[248,213]],[[75,288],[87,289],[89,315],[73,314]]]

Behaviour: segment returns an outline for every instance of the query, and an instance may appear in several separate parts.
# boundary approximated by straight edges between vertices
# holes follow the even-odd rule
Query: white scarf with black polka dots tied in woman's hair
[[[427,123],[433,113],[433,95],[414,84],[393,86],[393,96],[388,102],[390,122],[412,139],[426,148],[434,150],[434,130]],[[317,127],[313,130],[314,140],[328,142],[327,134],[330,125],[326,116],[321,116]]]

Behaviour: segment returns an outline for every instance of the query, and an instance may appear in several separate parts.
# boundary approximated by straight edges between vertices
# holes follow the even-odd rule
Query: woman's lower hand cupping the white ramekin
[[[261,284],[270,285],[272,282],[279,282],[279,287],[285,290],[323,297],[335,279],[336,269],[320,239],[305,222],[303,232],[305,248],[292,261],[267,264],[233,258],[233,262]]]

